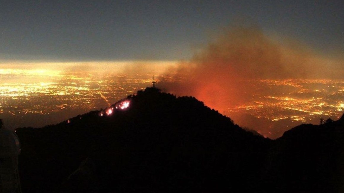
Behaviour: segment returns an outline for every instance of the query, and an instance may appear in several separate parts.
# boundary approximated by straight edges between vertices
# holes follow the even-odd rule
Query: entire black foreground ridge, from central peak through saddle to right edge
[[[155,88],[110,108],[17,129],[23,192],[344,190],[343,117],[270,140]]]

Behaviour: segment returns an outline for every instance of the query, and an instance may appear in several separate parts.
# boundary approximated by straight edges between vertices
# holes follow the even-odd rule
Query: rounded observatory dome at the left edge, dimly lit
[[[9,158],[20,154],[17,134],[8,129],[0,129],[0,158]]]

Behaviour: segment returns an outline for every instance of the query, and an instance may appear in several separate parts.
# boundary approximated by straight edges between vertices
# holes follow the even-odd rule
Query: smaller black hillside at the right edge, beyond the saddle
[[[267,184],[278,192],[344,191],[344,120],[302,124],[274,141]]]

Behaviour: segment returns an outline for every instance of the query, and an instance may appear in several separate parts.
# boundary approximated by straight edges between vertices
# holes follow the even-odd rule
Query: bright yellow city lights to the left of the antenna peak
[[[150,75],[63,76],[52,82],[0,84],[0,115],[99,110],[150,86]]]

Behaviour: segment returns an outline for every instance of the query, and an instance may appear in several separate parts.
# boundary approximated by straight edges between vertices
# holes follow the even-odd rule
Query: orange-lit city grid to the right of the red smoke
[[[271,121],[291,119],[309,122],[319,117],[340,118],[344,110],[343,80],[256,80],[252,102],[228,109]],[[261,88],[273,94],[259,94]],[[280,91],[280,92],[278,92]]]

